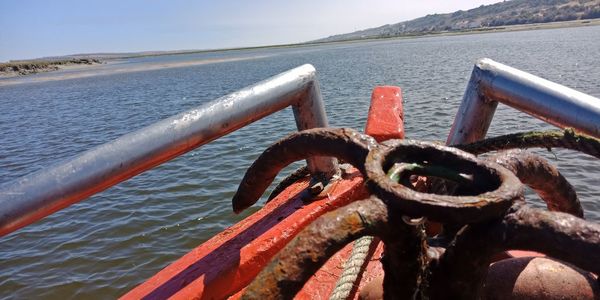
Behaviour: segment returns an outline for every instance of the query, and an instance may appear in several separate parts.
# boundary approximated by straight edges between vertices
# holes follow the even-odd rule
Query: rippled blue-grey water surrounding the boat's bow
[[[317,68],[332,126],[362,129],[371,89],[398,85],[407,136],[445,140],[477,58],[599,97],[599,53],[600,26],[143,58],[99,68],[123,72],[59,81],[34,82],[69,72],[35,75],[0,86],[0,183],[304,63]],[[181,67],[211,59],[242,60]],[[180,67],[126,72],[159,63]],[[500,107],[489,135],[549,128]],[[3,237],[0,298],[125,293],[240,220],[230,199],[245,169],[293,130],[284,110]],[[540,153],[600,221],[600,163]]]

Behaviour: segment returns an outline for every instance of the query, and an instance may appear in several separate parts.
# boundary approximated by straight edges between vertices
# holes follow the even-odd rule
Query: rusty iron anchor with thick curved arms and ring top
[[[292,298],[330,256],[362,236],[384,243],[387,299],[479,298],[493,256],[509,249],[541,252],[600,274],[600,225],[583,219],[573,187],[556,168],[521,150],[484,159],[432,142],[378,144],[347,128],[305,130],[255,161],[233,198],[234,210],[254,204],[283,167],[314,155],[356,167],[371,196],[305,228],[248,286],[246,299]],[[522,183],[550,211],[527,205]],[[427,235],[427,222],[443,230]]]

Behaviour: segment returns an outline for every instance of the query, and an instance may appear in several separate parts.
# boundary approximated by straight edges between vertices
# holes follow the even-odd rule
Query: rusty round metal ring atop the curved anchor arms
[[[472,174],[474,192],[459,196],[417,192],[386,175],[385,170],[397,162],[439,165]],[[369,189],[390,208],[442,223],[466,224],[499,218],[516,199],[523,197],[521,182],[504,167],[431,142],[390,141],[369,152],[365,169]]]

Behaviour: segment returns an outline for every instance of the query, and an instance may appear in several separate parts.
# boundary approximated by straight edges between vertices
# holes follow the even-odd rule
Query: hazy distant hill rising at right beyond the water
[[[600,18],[600,0],[511,0],[470,10],[433,14],[313,42],[422,35],[487,27]]]

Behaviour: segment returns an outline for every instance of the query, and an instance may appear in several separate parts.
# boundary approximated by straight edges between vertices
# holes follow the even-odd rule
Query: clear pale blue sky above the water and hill
[[[0,0],[0,61],[305,42],[499,0]]]

